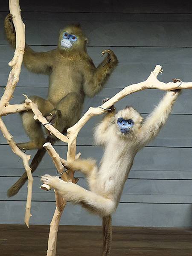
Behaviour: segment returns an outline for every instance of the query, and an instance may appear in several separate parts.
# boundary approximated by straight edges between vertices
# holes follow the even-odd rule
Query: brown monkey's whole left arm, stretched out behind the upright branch
[[[15,28],[12,22],[12,15],[6,16],[4,21],[6,37],[15,49],[16,35]],[[27,44],[25,44],[25,53],[23,56],[23,63],[28,70],[34,73],[49,74],[52,66],[52,51],[49,52],[34,52]]]

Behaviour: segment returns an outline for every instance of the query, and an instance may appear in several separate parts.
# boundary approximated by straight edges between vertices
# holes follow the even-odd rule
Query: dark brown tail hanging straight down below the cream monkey
[[[109,256],[112,241],[112,225],[111,225],[111,215],[103,217],[103,248],[102,256]]]

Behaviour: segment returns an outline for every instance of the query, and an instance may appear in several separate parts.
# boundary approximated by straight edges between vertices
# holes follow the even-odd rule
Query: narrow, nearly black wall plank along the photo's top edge
[[[190,1],[175,1],[162,0],[160,3],[153,0],[127,1],[121,0],[84,0],[82,2],[71,0],[64,2],[57,0],[52,3],[52,0],[47,0],[46,5],[44,0],[38,0],[38,3],[32,4],[30,1],[23,1],[20,3],[22,12],[123,12],[123,13],[192,13],[192,6]],[[1,4],[1,11],[9,10],[7,1]]]

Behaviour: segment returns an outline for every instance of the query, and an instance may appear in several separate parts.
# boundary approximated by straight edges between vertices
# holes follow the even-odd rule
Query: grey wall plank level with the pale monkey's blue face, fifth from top
[[[120,108],[119,108],[120,109]],[[145,118],[147,114],[142,114]],[[96,116],[84,125],[79,132],[77,145],[93,145],[93,128],[102,120],[103,116]],[[3,117],[3,121],[9,128],[10,133],[14,136],[17,143],[29,140],[24,132],[20,115],[14,114]],[[169,117],[168,122],[160,131],[155,140],[152,140],[150,146],[157,147],[192,147],[191,130],[188,126],[192,126],[192,115],[175,115]],[[182,133],[180,132],[182,131]],[[0,136],[0,144],[7,144],[6,139]],[[63,145],[58,141],[56,145]]]

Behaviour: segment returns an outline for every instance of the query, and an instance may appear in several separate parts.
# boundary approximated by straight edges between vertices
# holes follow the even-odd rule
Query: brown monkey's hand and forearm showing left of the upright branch
[[[9,41],[10,44],[12,44],[13,47],[15,47],[16,35],[15,35],[15,27],[12,20],[12,14],[9,13],[5,17],[4,26],[5,26],[7,40]]]

